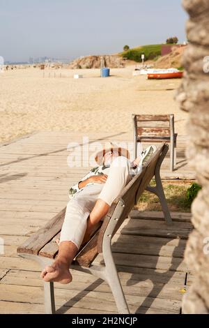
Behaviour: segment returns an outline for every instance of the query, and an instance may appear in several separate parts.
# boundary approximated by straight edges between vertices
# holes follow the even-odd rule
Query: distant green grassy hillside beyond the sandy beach
[[[121,55],[129,60],[141,62],[141,54],[144,54],[145,61],[160,56],[161,47],[162,45],[144,45],[124,51]]]

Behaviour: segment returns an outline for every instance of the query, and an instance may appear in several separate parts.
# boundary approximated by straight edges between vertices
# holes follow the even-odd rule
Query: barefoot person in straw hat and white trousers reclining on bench
[[[133,174],[141,172],[142,165],[154,151],[155,146],[150,146],[132,162],[127,149],[113,144],[96,154],[98,166],[70,188],[70,201],[58,241],[59,253],[54,263],[42,271],[44,281],[63,284],[72,281],[70,264],[79,248],[91,239],[95,225],[108,213]]]

